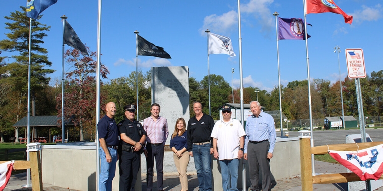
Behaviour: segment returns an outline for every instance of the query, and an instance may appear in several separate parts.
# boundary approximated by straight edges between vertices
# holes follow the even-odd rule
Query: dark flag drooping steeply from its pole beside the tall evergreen
[[[65,28],[64,28],[64,44],[79,50],[84,55],[89,56],[85,45],[81,42],[80,38],[77,36],[75,30],[71,27],[71,25],[65,20]]]

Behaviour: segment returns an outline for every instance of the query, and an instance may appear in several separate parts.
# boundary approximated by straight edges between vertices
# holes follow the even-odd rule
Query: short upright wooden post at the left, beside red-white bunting
[[[42,191],[40,151],[30,151],[29,160],[31,162],[32,190]]]

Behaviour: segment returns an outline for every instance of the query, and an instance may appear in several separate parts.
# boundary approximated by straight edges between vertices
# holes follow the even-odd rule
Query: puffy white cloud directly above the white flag
[[[204,18],[204,25],[200,29],[201,35],[205,34],[205,30],[209,29],[213,33],[225,33],[233,29],[237,25],[238,13],[236,11],[229,11],[222,15],[209,15]],[[223,35],[225,35],[223,34]]]

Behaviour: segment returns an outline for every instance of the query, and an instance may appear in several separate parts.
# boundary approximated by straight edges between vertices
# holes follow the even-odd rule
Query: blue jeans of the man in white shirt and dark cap
[[[229,190],[238,191],[237,183],[238,183],[239,159],[234,158],[232,160],[220,160],[219,165],[221,166],[223,191],[229,191]],[[230,186],[229,186],[229,182],[231,182]]]

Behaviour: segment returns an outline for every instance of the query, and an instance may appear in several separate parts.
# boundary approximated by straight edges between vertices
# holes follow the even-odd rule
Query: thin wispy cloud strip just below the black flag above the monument
[[[141,59],[137,59],[138,66],[143,67],[143,68],[150,68],[153,66],[171,66],[171,62],[168,59],[163,59],[163,58],[154,58],[146,60],[146,61],[141,61]],[[123,58],[118,59],[116,62],[113,64],[114,66],[120,66],[120,65],[129,65],[129,66],[136,66],[136,59],[132,60],[125,60]]]

